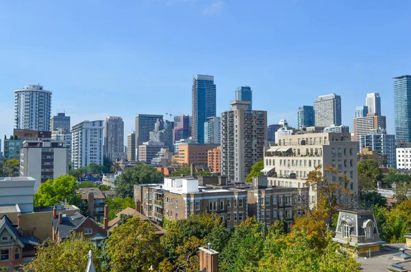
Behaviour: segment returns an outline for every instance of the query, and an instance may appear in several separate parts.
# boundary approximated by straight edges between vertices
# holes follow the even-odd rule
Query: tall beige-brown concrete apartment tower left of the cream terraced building
[[[250,111],[249,101],[230,105],[232,109],[221,113],[221,175],[230,182],[244,182],[251,166],[264,158],[267,112]]]

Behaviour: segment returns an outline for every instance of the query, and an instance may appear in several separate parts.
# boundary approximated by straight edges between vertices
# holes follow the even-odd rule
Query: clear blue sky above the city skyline
[[[409,1],[0,1],[0,135],[14,93],[40,83],[72,125],[136,113],[190,113],[193,74],[212,74],[217,113],[240,85],[269,124],[342,96],[343,124],[367,92],[394,132],[393,77],[409,74]]]

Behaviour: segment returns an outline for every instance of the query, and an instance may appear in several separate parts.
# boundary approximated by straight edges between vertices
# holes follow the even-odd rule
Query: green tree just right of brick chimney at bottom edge
[[[221,252],[220,269],[225,271],[256,271],[264,247],[264,223],[249,217],[234,229]]]

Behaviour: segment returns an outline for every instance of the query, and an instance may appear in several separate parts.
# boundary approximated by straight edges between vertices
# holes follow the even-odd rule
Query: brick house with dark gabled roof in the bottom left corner
[[[21,264],[33,260],[36,256],[35,247],[39,243],[32,236],[27,236],[21,230],[21,215],[18,215],[17,229],[7,215],[0,219],[0,267],[14,271]]]

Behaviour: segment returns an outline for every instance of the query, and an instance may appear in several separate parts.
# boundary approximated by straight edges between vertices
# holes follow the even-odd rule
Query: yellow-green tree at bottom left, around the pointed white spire
[[[36,260],[23,267],[23,271],[66,272],[84,271],[88,262],[88,251],[94,254],[93,263],[100,271],[99,252],[82,234],[73,234],[64,243],[46,240],[36,249]]]

